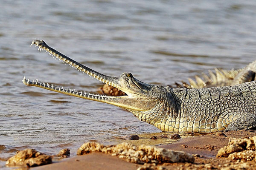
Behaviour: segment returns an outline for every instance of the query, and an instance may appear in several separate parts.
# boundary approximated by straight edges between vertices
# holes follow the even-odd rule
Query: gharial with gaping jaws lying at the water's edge
[[[39,46],[38,50],[48,51],[52,57],[127,95],[89,94],[41,83],[38,79],[29,81],[24,77],[25,85],[115,105],[167,132],[210,133],[256,127],[256,81],[201,89],[150,85],[134,78],[131,73],[111,77],[96,72],[49,47],[43,40],[34,40],[31,45]]]

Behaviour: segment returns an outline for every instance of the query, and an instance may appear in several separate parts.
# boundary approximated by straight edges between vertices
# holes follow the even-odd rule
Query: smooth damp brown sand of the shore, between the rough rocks
[[[255,161],[235,161],[227,158],[216,158],[216,154],[221,147],[228,144],[229,137],[242,138],[256,136],[256,130],[239,130],[224,132],[226,136],[218,136],[216,133],[202,136],[188,137],[180,139],[173,144],[159,147],[191,153],[195,156],[194,163],[165,163],[151,166],[153,169],[162,166],[166,169],[231,169],[241,166],[246,169],[255,169]],[[83,170],[112,170],[137,169],[143,165],[123,161],[115,156],[104,153],[90,153],[83,156],[63,159],[60,162],[32,168],[33,170],[55,170],[55,169],[83,169]]]

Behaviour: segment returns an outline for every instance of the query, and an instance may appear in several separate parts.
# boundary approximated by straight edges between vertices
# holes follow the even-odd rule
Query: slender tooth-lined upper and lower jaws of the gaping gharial
[[[117,77],[110,77],[110,76],[106,76],[104,74],[98,73],[96,71],[93,71],[90,68],[87,68],[86,66],[80,64],[79,62],[74,61],[73,59],[65,56],[64,54],[61,54],[60,52],[56,51],[55,49],[49,47],[43,40],[34,40],[32,41],[32,45],[35,45],[36,47],[38,46],[38,51],[45,51],[46,53],[49,52],[49,55],[51,55],[51,57],[55,57],[55,59],[59,59],[59,61],[63,61],[63,63],[65,64],[69,64],[70,67],[74,67],[76,70],[78,70],[79,72],[83,72],[83,74],[87,74],[89,77],[92,77],[93,79],[97,79],[102,83],[105,83],[106,85],[109,85],[110,87],[119,89],[118,83],[117,83]],[[68,94],[71,96],[76,96],[76,97],[80,97],[80,98],[86,98],[86,99],[93,99],[96,101],[105,101],[107,98],[113,97],[113,96],[106,96],[106,95],[101,95],[101,94],[91,94],[91,93],[87,93],[87,92],[82,92],[82,91],[76,91],[73,89],[69,89],[69,88],[63,88],[61,86],[57,86],[57,85],[53,85],[53,84],[48,84],[45,82],[39,82],[38,79],[29,81],[29,79],[25,79],[25,76],[23,77],[22,82],[25,85],[29,85],[29,86],[36,86],[36,87],[40,87],[40,88],[44,88],[50,91],[56,91],[59,93],[63,93],[63,94]],[[113,89],[112,88],[112,89]],[[113,90],[112,90],[113,91]],[[121,90],[119,90],[121,91]],[[124,93],[124,92],[123,92]],[[119,95],[121,98],[127,97],[127,95],[125,96],[121,96]],[[115,98],[118,96],[115,96]]]

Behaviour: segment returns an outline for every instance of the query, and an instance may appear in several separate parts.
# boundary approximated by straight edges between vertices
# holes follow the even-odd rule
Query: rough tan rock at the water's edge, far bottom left
[[[9,166],[27,165],[29,167],[35,167],[51,163],[52,156],[48,156],[43,153],[37,152],[34,149],[25,149],[18,151],[15,156],[12,156],[6,161],[6,165]]]

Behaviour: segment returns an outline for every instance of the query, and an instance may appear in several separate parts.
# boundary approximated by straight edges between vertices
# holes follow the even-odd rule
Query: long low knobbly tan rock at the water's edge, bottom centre
[[[194,156],[181,151],[166,150],[146,145],[135,146],[126,142],[111,146],[104,146],[97,142],[87,142],[79,148],[77,155],[92,152],[110,153],[112,156],[118,156],[120,159],[138,164],[195,161]]]

